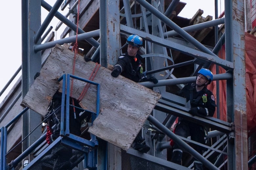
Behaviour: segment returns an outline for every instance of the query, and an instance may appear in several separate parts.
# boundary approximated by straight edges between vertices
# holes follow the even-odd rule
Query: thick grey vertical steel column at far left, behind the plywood
[[[22,97],[24,98],[32,83],[34,75],[41,70],[41,53],[35,53],[33,37],[41,25],[40,0],[22,0]],[[38,44],[41,43],[39,38]],[[41,122],[41,116],[32,110],[22,116],[22,138]],[[26,150],[41,136],[41,127],[24,140],[22,150]],[[32,157],[31,157],[32,159]]]

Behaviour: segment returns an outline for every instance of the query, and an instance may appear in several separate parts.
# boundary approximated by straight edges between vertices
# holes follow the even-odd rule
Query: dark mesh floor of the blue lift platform
[[[49,150],[42,159],[30,167],[30,170],[66,170],[73,169],[84,159],[84,153],[65,144],[58,144]]]

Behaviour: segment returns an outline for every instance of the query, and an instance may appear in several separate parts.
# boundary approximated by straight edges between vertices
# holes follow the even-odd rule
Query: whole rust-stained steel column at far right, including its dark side
[[[225,0],[225,56],[234,61],[233,80],[226,85],[227,121],[235,125],[228,139],[228,169],[248,169],[244,22],[244,0]]]

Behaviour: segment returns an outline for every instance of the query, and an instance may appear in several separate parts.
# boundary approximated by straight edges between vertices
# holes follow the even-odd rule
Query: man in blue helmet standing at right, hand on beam
[[[211,91],[206,86],[211,83],[213,74],[210,70],[202,68],[199,70],[196,82],[187,84],[179,92],[178,95],[185,97],[187,101],[190,100],[191,109],[189,113],[193,116],[213,116],[215,112],[215,98]],[[189,122],[185,119],[179,118],[178,124],[175,127],[175,134],[191,140],[205,144],[205,136],[207,134],[206,128]],[[203,147],[195,145],[194,149],[203,154]],[[177,144],[173,145],[173,154],[171,161],[181,164],[182,149]],[[194,169],[203,170],[203,164],[194,158]]]

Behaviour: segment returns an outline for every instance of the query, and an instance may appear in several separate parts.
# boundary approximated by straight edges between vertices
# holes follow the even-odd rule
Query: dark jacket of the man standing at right
[[[195,83],[192,84],[187,84],[186,86],[184,86],[177,95],[181,96],[181,97],[185,97],[187,99],[187,101],[190,100],[190,95],[191,93],[193,93],[193,101],[190,101],[191,104],[191,108],[194,107],[202,107],[202,108],[207,108],[208,109],[208,116],[213,116],[214,112],[215,112],[215,98],[214,95],[212,94],[211,91],[209,91],[207,88],[203,87],[203,89],[199,92],[196,91],[196,85]],[[202,96],[206,94],[207,97],[207,102],[203,102],[203,98]],[[203,113],[200,113],[203,116],[206,116],[206,110],[202,109]]]

